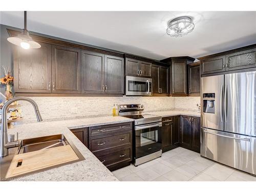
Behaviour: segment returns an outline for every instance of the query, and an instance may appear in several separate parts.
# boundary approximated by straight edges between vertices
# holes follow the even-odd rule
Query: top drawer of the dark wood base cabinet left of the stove
[[[89,137],[130,130],[132,130],[132,123],[93,126],[89,129]]]

